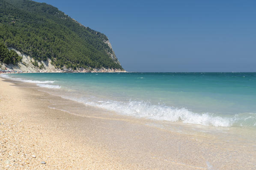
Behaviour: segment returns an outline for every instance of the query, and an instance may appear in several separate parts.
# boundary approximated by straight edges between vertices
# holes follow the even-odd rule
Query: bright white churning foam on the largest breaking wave
[[[189,124],[201,124],[204,126],[229,127],[231,122],[228,118],[212,116],[208,113],[198,114],[185,108],[174,108],[164,105],[154,105],[147,102],[129,101],[105,102],[96,104],[98,107],[117,111],[121,114],[132,115],[136,117],[155,119],[160,121],[182,121]]]

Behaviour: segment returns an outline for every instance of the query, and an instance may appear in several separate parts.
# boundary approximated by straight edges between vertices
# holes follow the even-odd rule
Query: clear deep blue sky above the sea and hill
[[[36,0],[110,40],[130,72],[256,72],[256,0]]]

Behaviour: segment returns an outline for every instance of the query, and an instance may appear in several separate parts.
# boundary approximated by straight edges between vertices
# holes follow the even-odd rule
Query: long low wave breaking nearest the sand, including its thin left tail
[[[130,115],[137,118],[148,118],[158,121],[182,122],[186,124],[199,124],[203,126],[214,127],[231,127],[246,125],[246,118],[244,116],[235,115],[233,117],[220,117],[210,113],[195,113],[185,108],[175,108],[162,104],[151,104],[143,101],[89,101],[86,98],[70,98],[62,96],[66,99],[78,101],[80,103],[100,107],[117,112],[121,115]],[[251,113],[254,114],[254,113]],[[250,115],[251,116],[251,115]],[[256,114],[254,114],[256,120]],[[239,123],[240,121],[240,123]],[[251,121],[251,120],[250,120]],[[252,121],[253,122],[253,121]],[[255,121],[254,121],[255,123]],[[255,126],[255,125],[252,125]]]

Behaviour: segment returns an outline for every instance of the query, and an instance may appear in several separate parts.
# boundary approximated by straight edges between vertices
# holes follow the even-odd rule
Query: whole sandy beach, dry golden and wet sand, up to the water
[[[86,108],[94,115],[73,115],[51,109],[50,101],[78,103],[31,84],[0,78],[0,86],[0,170],[256,168],[250,144],[176,133],[92,107]]]

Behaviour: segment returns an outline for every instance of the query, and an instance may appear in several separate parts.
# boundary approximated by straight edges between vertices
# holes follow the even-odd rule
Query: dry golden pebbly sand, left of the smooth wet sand
[[[20,89],[3,78],[0,85],[7,86],[0,90],[0,168],[115,169],[118,159],[71,129],[80,116],[48,108],[49,102],[39,99],[50,96],[45,92]]]

